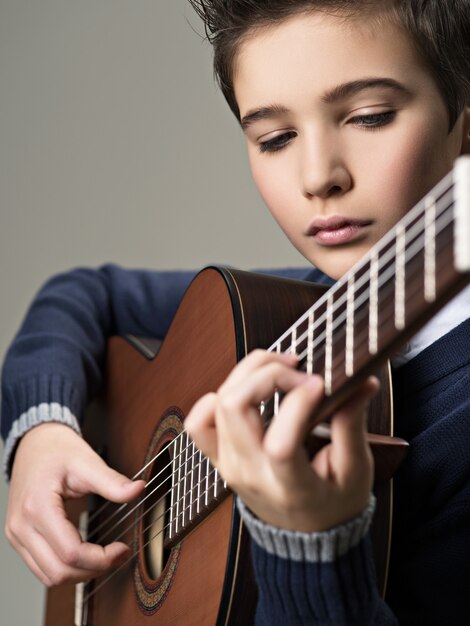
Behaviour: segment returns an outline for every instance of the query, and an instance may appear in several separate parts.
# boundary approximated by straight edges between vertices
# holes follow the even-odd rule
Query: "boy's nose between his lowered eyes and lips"
[[[303,195],[308,199],[327,199],[349,191],[352,177],[335,137],[312,133],[304,139],[300,164]]]

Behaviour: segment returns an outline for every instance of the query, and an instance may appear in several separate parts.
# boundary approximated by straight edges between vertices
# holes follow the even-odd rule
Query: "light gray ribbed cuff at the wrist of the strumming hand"
[[[22,413],[20,417],[12,424],[8,437],[5,441],[3,450],[3,473],[7,482],[10,480],[12,454],[16,448],[18,441],[29,430],[39,424],[46,422],[58,422],[73,428],[78,434],[81,434],[80,426],[77,418],[70,409],[61,406],[57,402],[47,404],[41,403],[39,406],[30,407]]]

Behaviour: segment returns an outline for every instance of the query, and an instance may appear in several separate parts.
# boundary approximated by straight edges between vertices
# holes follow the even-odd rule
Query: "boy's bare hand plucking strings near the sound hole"
[[[31,571],[48,587],[100,576],[126,560],[122,542],[82,541],[64,501],[96,493],[129,502],[144,487],[111,469],[69,426],[41,424],[21,439],[12,469],[5,533]]]

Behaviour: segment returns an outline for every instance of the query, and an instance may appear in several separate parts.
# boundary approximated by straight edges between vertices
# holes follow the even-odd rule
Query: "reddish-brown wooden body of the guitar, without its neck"
[[[113,338],[103,411],[94,420],[105,433],[106,461],[123,474],[137,474],[183,429],[196,400],[216,390],[248,351],[268,347],[323,292],[323,287],[309,283],[209,268],[189,287],[154,358]],[[383,382],[382,395],[371,412],[377,416],[370,425],[372,432],[391,434],[389,393],[389,384]],[[380,410],[378,404],[382,404]],[[147,480],[162,469],[154,465],[150,463],[146,470]],[[378,517],[382,526],[380,517],[385,520],[385,546],[390,526],[389,483],[378,487],[384,496]],[[121,539],[134,546],[136,556],[109,580],[104,576],[87,587],[90,599],[80,626],[251,624],[256,589],[249,540],[233,496],[221,498],[171,548],[162,543],[157,546],[162,558],[157,574],[149,547],[144,545],[149,513],[142,507],[127,520],[134,523]],[[379,552],[383,584],[387,547]],[[45,625],[75,624],[74,603],[72,586],[51,590]]]

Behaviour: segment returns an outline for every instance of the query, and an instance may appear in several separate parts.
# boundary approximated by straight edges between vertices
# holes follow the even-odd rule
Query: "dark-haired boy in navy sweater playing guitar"
[[[327,276],[339,278],[470,152],[468,2],[193,4],[206,20],[260,193],[292,243]],[[303,276],[326,280],[318,271]],[[116,331],[164,334],[187,281],[116,268],[57,278],[12,347],[2,413],[7,455],[24,436],[7,534],[45,584],[89,578],[125,556],[119,544],[80,545],[63,518],[63,498],[95,491],[121,502],[142,488],[63,425],[78,429],[75,416],[99,384],[102,354],[89,348],[91,336],[98,330],[102,346]],[[123,290],[146,296],[137,323]],[[67,316],[46,305],[46,294],[63,303],[79,292],[91,298],[86,311]],[[333,416],[332,444],[311,464],[300,433],[322,385],[296,371],[290,357],[253,353],[194,407],[188,430],[240,494],[254,538],[258,623],[464,623],[469,464],[459,446],[469,440],[468,304],[467,289],[451,303],[452,319],[438,318],[444,330],[433,320],[395,372],[396,432],[411,451],[397,477],[387,603],[375,587],[368,541],[372,467],[363,410],[374,381]],[[159,320],[150,325],[156,310]],[[75,328],[81,348],[46,346],[39,337],[46,311],[52,327],[72,335]],[[38,358],[30,355],[37,341]],[[277,387],[286,397],[262,436],[257,405]],[[41,421],[62,424],[31,429]]]

